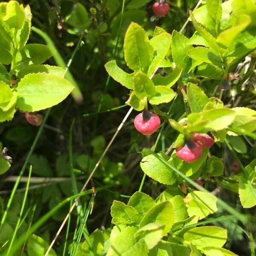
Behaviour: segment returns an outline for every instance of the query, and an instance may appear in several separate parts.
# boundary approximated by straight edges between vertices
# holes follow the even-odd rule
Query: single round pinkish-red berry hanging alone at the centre
[[[161,120],[157,114],[144,110],[134,118],[134,126],[140,133],[151,135],[159,128]]]

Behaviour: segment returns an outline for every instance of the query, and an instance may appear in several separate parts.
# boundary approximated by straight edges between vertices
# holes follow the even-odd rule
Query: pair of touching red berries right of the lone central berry
[[[214,137],[211,134],[195,133],[185,141],[183,147],[176,148],[176,154],[185,162],[192,163],[201,157],[203,148],[210,148],[213,144]]]

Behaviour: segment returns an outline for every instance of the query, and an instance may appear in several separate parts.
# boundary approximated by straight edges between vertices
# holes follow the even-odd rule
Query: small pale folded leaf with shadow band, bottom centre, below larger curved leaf
[[[163,224],[160,223],[149,223],[141,227],[135,236],[140,236],[145,240],[148,249],[152,249],[163,237]]]

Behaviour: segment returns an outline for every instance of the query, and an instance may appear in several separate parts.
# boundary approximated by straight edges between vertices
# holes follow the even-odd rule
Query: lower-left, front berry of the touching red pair
[[[186,140],[186,144],[183,147],[176,148],[177,157],[188,163],[198,160],[202,152],[201,145],[194,143],[192,140]]]

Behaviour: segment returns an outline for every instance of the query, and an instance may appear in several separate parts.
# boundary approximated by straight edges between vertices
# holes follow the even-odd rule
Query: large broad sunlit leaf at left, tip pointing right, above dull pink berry
[[[39,111],[62,102],[73,90],[64,78],[49,73],[28,74],[17,87],[17,108],[22,111]]]

